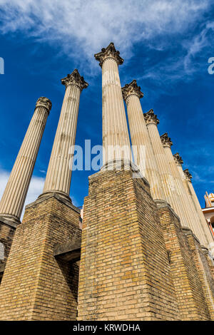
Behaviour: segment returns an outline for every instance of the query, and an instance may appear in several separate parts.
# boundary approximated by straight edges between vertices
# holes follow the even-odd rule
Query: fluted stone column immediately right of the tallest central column
[[[148,180],[153,199],[165,200],[158,165],[154,157],[146,122],[143,118],[140,101],[143,98],[141,87],[134,80],[122,88],[122,93],[127,105],[128,124],[135,163],[138,165],[141,175]]]

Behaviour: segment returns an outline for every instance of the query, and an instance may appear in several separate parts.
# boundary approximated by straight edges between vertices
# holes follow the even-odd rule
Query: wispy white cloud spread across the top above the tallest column
[[[60,48],[68,56],[76,56],[80,61],[80,51],[92,61],[93,53],[113,41],[121,56],[128,59],[133,43],[144,41],[151,45],[156,36],[183,33],[208,11],[211,3],[211,0],[0,0],[1,32],[22,31],[40,41],[60,42]]]

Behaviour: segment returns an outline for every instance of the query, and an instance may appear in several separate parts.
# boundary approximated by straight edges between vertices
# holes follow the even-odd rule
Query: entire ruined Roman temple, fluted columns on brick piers
[[[160,136],[154,111],[143,113],[136,80],[121,88],[123,58],[113,43],[95,58],[105,155],[89,177],[83,222],[69,197],[69,148],[88,83],[74,70],[61,80],[65,96],[44,191],[20,222],[51,109],[43,97],[0,202],[0,319],[214,320],[214,239],[190,172],[173,155],[168,133]]]

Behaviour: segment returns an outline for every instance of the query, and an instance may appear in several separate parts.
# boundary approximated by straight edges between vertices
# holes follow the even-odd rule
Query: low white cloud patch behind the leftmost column
[[[10,175],[9,172],[5,170],[0,170],[0,199],[3,195],[4,189],[6,187],[6,183],[9,179],[9,175]],[[31,178],[31,183],[29,185],[29,191],[26,196],[24,207],[30,204],[31,202],[34,202],[37,199],[37,197],[41,195],[43,187],[44,187],[44,178],[35,177],[35,176]],[[23,215],[24,215],[24,210],[22,212],[21,219]]]

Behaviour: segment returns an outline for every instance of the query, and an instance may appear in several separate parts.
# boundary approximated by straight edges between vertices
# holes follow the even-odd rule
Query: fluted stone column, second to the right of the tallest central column
[[[175,213],[180,217],[181,225],[186,226],[187,222],[183,215],[183,211],[181,210],[180,197],[178,195],[175,179],[173,178],[172,172],[170,171],[170,166],[165,155],[165,150],[158,133],[157,125],[159,120],[152,109],[143,115],[146,120],[148,134],[151,139],[153,152],[156,157],[159,173],[161,175],[165,199],[171,205],[171,207],[173,207]]]

